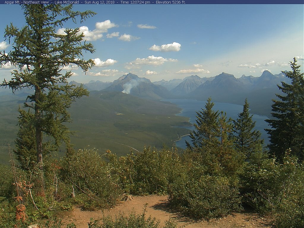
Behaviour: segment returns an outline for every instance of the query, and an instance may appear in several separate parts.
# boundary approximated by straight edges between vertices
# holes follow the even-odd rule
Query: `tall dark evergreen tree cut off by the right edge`
[[[273,119],[265,120],[271,126],[271,129],[265,129],[270,138],[268,147],[280,160],[289,148],[299,161],[304,158],[304,74],[296,62],[295,58],[290,62],[292,71],[282,71],[292,80],[291,85],[283,81],[278,85],[284,95],[276,94],[279,100],[272,100]]]

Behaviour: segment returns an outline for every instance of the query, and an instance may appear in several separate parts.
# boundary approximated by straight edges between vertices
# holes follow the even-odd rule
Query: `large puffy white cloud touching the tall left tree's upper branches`
[[[79,32],[78,35],[83,33],[85,37],[83,38],[84,40],[98,40],[102,38],[102,33],[107,33],[108,29],[113,28],[113,27],[118,27],[116,24],[112,23],[110,20],[106,20],[103,22],[96,22],[95,23],[95,29],[94,30],[89,30],[87,26],[81,26],[79,27]],[[66,35],[64,32],[65,28],[60,28],[57,30],[58,35]]]

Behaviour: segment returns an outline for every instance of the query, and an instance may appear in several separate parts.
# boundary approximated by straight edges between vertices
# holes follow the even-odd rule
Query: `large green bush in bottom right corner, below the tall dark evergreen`
[[[245,204],[275,214],[277,227],[304,227],[304,167],[296,157],[287,151],[281,164],[260,154],[241,179]]]

